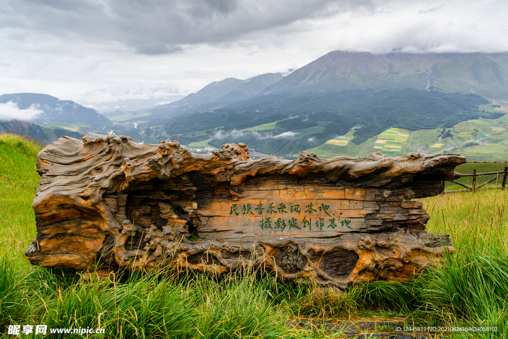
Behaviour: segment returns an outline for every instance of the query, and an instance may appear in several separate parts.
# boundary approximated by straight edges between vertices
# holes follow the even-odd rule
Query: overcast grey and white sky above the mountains
[[[0,94],[170,100],[332,50],[508,51],[506,1],[0,0]]]

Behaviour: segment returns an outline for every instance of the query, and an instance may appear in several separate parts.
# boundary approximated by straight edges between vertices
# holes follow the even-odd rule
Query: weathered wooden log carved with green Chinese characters
[[[166,140],[62,137],[40,153],[33,264],[224,273],[263,266],[282,279],[347,287],[403,281],[453,251],[424,231],[414,198],[441,193],[458,155],[253,161],[245,144],[197,155]]]

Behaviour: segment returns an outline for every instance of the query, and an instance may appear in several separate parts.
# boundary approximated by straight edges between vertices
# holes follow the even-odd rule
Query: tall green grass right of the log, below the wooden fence
[[[447,194],[423,201],[428,229],[449,233],[455,253],[429,271],[428,305],[475,326],[508,334],[508,192]],[[501,336],[502,335],[502,336]]]

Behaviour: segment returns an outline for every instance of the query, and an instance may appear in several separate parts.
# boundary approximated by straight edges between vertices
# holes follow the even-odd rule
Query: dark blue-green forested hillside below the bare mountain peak
[[[487,103],[477,95],[410,88],[266,95],[243,101],[241,108],[236,103],[189,114],[145,132],[153,137],[164,134],[184,144],[213,139],[209,144],[216,147],[244,142],[261,152],[288,154],[317,147],[351,130],[356,130],[352,141],[360,144],[390,127],[412,131],[452,127],[485,114],[478,105]],[[242,131],[275,121],[270,130]]]

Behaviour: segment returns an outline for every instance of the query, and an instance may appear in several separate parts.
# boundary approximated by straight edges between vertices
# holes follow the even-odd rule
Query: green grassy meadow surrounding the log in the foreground
[[[31,266],[23,256],[36,234],[30,205],[40,148],[0,135],[0,336],[14,337],[7,335],[8,325],[44,324],[105,329],[83,335],[90,338],[342,338],[346,322],[386,320],[497,327],[436,332],[433,338],[504,338],[508,333],[506,191],[421,199],[431,215],[427,230],[450,234],[455,252],[408,283],[354,285],[337,294],[313,284],[280,282],[256,269],[224,276],[119,272],[100,282],[70,269]],[[297,319],[314,325],[310,331],[296,329],[291,323]],[[337,324],[339,331],[332,333],[321,325],[324,321]],[[47,337],[73,336],[78,337]]]

